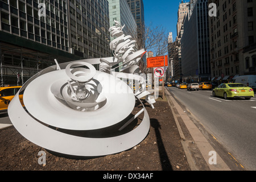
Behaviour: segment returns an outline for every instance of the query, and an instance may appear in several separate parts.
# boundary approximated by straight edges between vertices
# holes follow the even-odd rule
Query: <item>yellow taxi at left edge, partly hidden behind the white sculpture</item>
[[[21,86],[0,87],[0,113],[7,111],[11,100],[13,100],[15,94],[19,91],[20,88]],[[19,100],[22,106],[24,106],[23,93],[19,94]]]

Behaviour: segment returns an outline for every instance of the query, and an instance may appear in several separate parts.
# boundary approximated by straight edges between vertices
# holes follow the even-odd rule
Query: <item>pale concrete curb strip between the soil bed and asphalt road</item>
[[[166,88],[164,88],[164,91],[172,114],[174,115],[181,138],[181,144],[184,148],[191,171],[231,171],[220,155],[215,152],[207,138],[204,137],[201,131],[188,117],[187,113],[185,113],[176,102],[175,98]],[[188,136],[188,134],[185,135],[185,131],[188,131],[190,136]],[[216,156],[216,164],[210,164],[212,154]]]

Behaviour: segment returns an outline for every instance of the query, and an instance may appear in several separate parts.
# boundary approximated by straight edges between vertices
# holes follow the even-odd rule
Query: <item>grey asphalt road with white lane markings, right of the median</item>
[[[212,90],[167,89],[246,169],[256,169],[255,97],[224,100]]]

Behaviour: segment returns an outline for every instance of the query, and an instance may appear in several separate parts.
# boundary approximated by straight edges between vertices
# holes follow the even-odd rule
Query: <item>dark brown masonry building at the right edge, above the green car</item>
[[[256,75],[256,2],[216,3],[209,17],[212,80],[229,82],[238,75]]]

